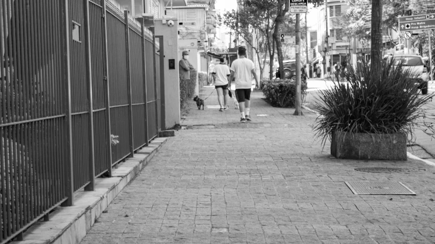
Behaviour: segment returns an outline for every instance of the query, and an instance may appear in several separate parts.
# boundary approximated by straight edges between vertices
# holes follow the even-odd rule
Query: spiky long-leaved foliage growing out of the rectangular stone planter
[[[317,137],[323,144],[331,133],[405,133],[413,138],[414,127],[425,127],[434,132],[426,122],[419,122],[426,112],[422,106],[433,95],[419,96],[416,80],[402,65],[383,62],[380,78],[372,79],[370,67],[364,63],[358,70],[348,66],[343,77],[332,75],[334,86],[320,91],[316,109],[321,116],[316,121]],[[430,134],[428,133],[428,134]],[[433,136],[433,134],[432,134]]]

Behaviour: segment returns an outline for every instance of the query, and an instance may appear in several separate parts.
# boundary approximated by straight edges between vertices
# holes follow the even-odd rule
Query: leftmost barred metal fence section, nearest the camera
[[[69,152],[63,3],[0,4],[0,242],[62,203]]]

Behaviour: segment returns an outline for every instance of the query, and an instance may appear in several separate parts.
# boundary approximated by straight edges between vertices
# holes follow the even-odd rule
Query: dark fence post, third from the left
[[[109,138],[107,139],[109,142],[109,150],[108,150],[108,169],[109,169],[109,176],[112,176],[112,140],[110,138],[111,135],[111,126],[110,126],[110,87],[109,87],[109,53],[108,53],[108,44],[107,44],[107,18],[106,18],[106,1],[101,1],[101,6],[103,9],[103,15],[101,16],[104,18],[103,20],[103,67],[104,67],[104,79],[105,79],[105,85],[106,85],[106,126],[107,130],[109,131]]]

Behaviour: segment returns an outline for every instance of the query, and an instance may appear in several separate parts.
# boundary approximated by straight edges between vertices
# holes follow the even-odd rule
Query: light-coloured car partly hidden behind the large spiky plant
[[[418,88],[423,95],[427,94],[427,82],[429,80],[429,68],[425,65],[423,58],[416,54],[395,54],[388,57],[388,61],[393,59],[394,65],[403,62],[403,69],[409,70],[413,78],[418,80]]]

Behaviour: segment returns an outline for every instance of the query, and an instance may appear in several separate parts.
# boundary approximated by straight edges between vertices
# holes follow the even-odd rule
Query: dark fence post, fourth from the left
[[[131,65],[130,65],[130,35],[128,23],[128,10],[124,10],[124,21],[126,26],[126,63],[127,63],[127,94],[128,94],[128,120],[130,133],[130,157],[134,156],[134,140],[133,140],[133,105],[131,98]]]

